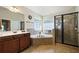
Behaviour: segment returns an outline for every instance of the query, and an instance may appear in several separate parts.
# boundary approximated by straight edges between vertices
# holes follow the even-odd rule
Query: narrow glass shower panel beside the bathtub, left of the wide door
[[[55,42],[62,43],[62,16],[55,16]]]

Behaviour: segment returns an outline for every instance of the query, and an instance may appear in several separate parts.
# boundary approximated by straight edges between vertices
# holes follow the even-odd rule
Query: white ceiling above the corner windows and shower
[[[32,10],[33,12],[45,16],[49,14],[59,14],[63,12],[72,11],[75,7],[74,6],[25,6]]]

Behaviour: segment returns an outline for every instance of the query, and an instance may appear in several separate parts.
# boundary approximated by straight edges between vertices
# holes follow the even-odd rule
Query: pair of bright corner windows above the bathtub
[[[54,29],[54,20],[51,19],[34,19],[34,30],[38,32],[48,32]]]

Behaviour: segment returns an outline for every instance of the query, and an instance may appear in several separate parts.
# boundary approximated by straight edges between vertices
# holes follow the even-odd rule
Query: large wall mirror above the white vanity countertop
[[[0,32],[24,31],[24,26],[23,14],[11,12],[4,7],[0,7]]]

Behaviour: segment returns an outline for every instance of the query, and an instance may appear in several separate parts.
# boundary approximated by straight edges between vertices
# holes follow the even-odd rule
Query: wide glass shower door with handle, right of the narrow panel
[[[65,44],[78,46],[78,20],[77,13],[63,15],[63,32]]]

